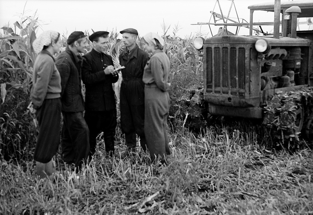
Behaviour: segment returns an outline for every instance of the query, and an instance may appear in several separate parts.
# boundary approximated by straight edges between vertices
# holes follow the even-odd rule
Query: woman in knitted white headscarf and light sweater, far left
[[[45,31],[33,42],[34,51],[40,52],[33,66],[31,90],[31,100],[39,124],[34,160],[36,174],[40,178],[55,172],[52,158],[57,153],[60,142],[61,77],[53,57],[60,47],[60,34],[55,31]]]

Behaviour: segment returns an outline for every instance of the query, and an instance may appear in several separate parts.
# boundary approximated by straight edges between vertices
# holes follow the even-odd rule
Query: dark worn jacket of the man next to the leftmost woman
[[[81,62],[81,57],[74,55],[68,47],[57,57],[55,64],[61,75],[62,111],[76,113],[84,111]]]

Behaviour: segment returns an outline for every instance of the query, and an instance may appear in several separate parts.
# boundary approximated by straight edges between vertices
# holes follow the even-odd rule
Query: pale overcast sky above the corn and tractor
[[[248,6],[274,0],[234,0],[230,17],[244,18],[249,22]],[[288,0],[281,0],[288,1]],[[223,15],[227,16],[231,0],[219,0]],[[25,9],[24,9],[25,7]],[[236,9],[236,10],[235,10]],[[213,22],[210,11],[220,13],[216,0],[0,0],[0,27],[13,27],[20,22],[21,14],[40,20],[43,30],[55,30],[68,36],[73,31],[109,31],[120,32],[125,28],[136,28],[141,36],[147,32],[162,34],[163,20],[171,25],[167,35],[172,35],[175,25],[181,28],[178,35],[185,38],[196,33],[211,36],[208,25],[191,25],[197,22]],[[236,14],[237,11],[237,14]],[[210,20],[211,18],[211,20]],[[274,14],[260,17],[272,21]],[[254,19],[254,21],[257,21]],[[213,35],[218,27],[212,26]],[[235,31],[235,30],[234,30]],[[241,35],[249,34],[240,29]],[[1,33],[3,31],[1,30]],[[19,33],[19,32],[17,32]]]

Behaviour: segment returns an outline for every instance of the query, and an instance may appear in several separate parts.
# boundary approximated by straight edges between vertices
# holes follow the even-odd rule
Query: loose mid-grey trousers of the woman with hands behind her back
[[[170,154],[167,135],[167,116],[170,108],[168,92],[157,87],[145,87],[145,134],[151,160],[158,157],[165,163]]]

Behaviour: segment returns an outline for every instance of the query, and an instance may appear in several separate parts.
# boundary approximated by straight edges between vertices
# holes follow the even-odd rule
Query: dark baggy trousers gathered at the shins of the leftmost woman
[[[48,163],[57,153],[60,143],[61,100],[45,99],[36,111],[39,134],[34,153],[34,160]]]

